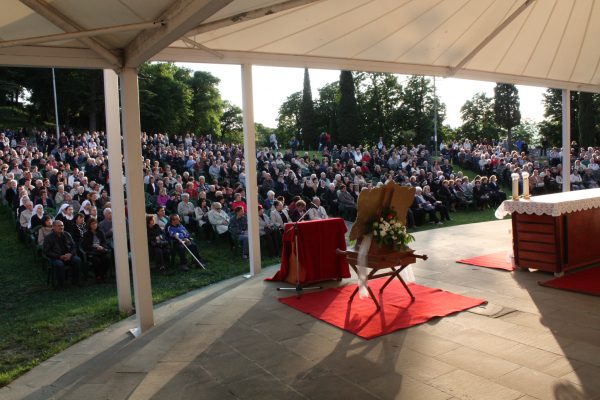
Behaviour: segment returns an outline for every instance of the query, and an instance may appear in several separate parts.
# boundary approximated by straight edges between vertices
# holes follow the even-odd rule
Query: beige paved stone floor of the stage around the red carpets
[[[487,299],[477,313],[366,341],[280,304],[288,294],[263,281],[272,267],[157,307],[141,338],[122,321],[0,399],[600,399],[599,297],[541,287],[551,275],[540,272],[454,262],[508,250],[509,229],[495,221],[415,235],[413,248],[430,257],[414,266],[417,283]]]

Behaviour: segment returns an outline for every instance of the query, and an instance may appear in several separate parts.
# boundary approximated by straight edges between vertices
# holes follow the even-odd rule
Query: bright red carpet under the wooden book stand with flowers
[[[384,278],[375,279],[369,281],[369,287],[380,296],[379,288],[383,283]],[[302,296],[280,298],[279,301],[364,339],[386,335],[485,302],[440,289],[410,284],[410,290],[416,298],[411,303],[410,296],[400,281],[394,279],[385,288],[383,296],[378,298],[381,310],[377,311],[375,303],[369,298],[361,299],[356,295],[354,301],[348,303],[355,288],[356,285],[347,285]]]

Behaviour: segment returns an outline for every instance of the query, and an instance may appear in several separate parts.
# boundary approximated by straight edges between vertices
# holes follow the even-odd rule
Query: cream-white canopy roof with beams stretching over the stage
[[[600,2],[594,0],[2,3],[2,65],[252,63],[600,92]]]

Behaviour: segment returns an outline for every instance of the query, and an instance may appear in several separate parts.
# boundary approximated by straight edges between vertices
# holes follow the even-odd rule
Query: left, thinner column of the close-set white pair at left
[[[121,119],[119,111],[119,77],[112,69],[104,70],[104,108],[108,140],[108,173],[110,177],[110,206],[113,216],[113,248],[117,275],[119,311],[130,314],[131,283],[127,257],[125,197],[123,194],[123,153],[121,152]]]

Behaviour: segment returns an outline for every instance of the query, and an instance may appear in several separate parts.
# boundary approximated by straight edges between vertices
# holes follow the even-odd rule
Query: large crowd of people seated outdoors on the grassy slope
[[[190,266],[186,252],[198,258],[200,252],[194,234],[207,242],[224,238],[247,257],[243,148],[210,137],[146,133],[142,146],[146,212],[152,217],[148,241],[156,266],[166,269],[173,254]],[[600,150],[574,146],[571,152],[573,189],[598,187]],[[75,265],[65,268],[74,271],[73,281],[79,279],[78,259],[89,260],[96,280],[104,281],[106,258],[98,253],[103,253],[100,247],[110,251],[112,241],[106,135],[62,133],[55,140],[37,131],[29,137],[0,132],[0,160],[2,200],[15,215],[19,237],[34,237],[42,248],[50,234],[60,236],[62,244],[68,238],[77,254],[58,259]],[[386,147],[380,141],[372,147],[323,146],[312,157],[261,148],[256,162],[259,232],[273,255],[285,223],[332,216],[353,221],[360,192],[390,181],[417,189],[409,227],[427,220],[441,224],[460,208],[497,206],[506,198],[501,187],[513,172],[530,173],[534,194],[557,191],[562,183],[561,154],[555,148],[536,158],[527,151],[506,151],[502,144],[469,140],[442,145],[439,159],[425,145]],[[459,169],[477,176],[470,180]],[[85,253],[90,257],[81,257]],[[56,280],[64,283],[62,276]]]

